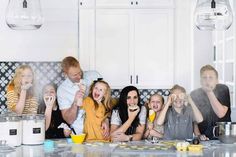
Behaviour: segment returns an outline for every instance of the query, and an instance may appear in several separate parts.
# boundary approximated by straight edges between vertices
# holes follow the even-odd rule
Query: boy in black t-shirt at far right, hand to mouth
[[[216,122],[230,122],[230,95],[229,88],[218,84],[218,72],[211,65],[205,65],[200,70],[201,88],[191,93],[193,101],[203,115],[204,121],[195,125],[196,135],[201,140],[213,139],[213,127]]]

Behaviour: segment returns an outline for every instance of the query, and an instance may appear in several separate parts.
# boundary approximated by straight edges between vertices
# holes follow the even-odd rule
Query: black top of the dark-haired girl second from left
[[[44,114],[45,109],[42,109],[43,108],[42,106],[40,106],[39,108],[41,108],[41,113]],[[61,123],[67,124],[65,120],[62,118],[61,111],[57,105],[57,110],[55,111],[52,110],[51,123],[49,125],[48,130],[45,132],[45,138],[47,139],[65,138],[63,128],[58,129],[58,126],[61,125]]]

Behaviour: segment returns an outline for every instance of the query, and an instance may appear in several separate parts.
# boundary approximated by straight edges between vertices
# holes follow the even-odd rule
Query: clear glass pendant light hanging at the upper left
[[[40,0],[9,0],[6,23],[14,30],[39,29],[43,24]]]

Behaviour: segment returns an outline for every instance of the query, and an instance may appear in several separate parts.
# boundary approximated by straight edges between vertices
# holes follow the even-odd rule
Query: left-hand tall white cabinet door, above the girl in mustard
[[[131,82],[130,12],[97,9],[95,68],[113,89]]]

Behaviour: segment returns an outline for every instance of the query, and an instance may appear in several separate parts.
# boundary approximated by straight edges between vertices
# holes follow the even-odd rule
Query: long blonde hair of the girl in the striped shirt
[[[32,72],[32,75],[33,75],[32,84],[34,84],[34,72],[33,72],[32,68],[29,65],[19,66],[16,69],[16,72],[15,72],[15,75],[13,76],[13,79],[11,80],[11,82],[8,85],[8,88],[14,88],[14,92],[18,96],[20,95],[20,92],[21,92],[21,81],[22,81],[21,75],[22,75],[22,73],[25,69],[29,69]],[[34,87],[34,85],[33,85],[33,87]],[[27,96],[29,96],[29,97],[33,96],[33,94],[34,94],[33,93],[33,91],[34,91],[33,87],[28,90],[28,95]]]

